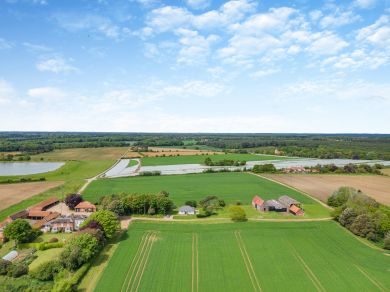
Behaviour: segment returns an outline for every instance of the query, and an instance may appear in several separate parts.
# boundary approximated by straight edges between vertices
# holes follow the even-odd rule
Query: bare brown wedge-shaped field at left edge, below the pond
[[[0,210],[62,185],[63,181],[0,184]]]

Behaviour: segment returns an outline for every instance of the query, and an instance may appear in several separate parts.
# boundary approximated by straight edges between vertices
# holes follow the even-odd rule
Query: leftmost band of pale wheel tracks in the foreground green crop
[[[137,252],[134,255],[134,258],[126,273],[126,277],[122,283],[121,292],[138,291],[155,240],[155,232],[146,232],[142,236]]]

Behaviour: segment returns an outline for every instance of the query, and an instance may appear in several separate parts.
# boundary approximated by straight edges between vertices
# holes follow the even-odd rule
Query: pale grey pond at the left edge
[[[0,162],[0,176],[45,173],[63,166],[64,162]]]

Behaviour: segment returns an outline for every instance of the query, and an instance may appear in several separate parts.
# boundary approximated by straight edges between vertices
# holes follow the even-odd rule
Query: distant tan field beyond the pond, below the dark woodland
[[[128,147],[72,148],[54,150],[34,155],[33,160],[116,160],[126,153],[129,157],[139,157],[138,153],[128,153]]]

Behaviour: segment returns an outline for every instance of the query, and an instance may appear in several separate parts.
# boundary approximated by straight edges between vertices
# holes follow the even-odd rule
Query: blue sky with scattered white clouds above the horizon
[[[0,130],[390,133],[389,62],[389,0],[1,0]]]

